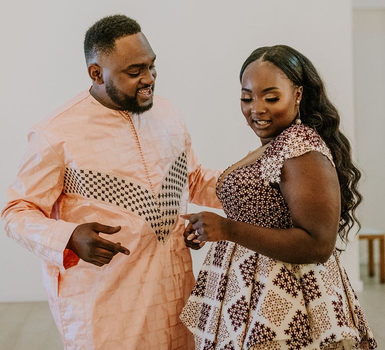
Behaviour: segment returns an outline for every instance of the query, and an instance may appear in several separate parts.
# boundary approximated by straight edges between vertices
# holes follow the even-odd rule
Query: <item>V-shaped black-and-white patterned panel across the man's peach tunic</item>
[[[71,167],[65,169],[63,190],[134,212],[146,220],[158,241],[164,244],[175,223],[187,179],[186,154],[182,152],[168,170],[157,200],[147,188],[124,178]]]

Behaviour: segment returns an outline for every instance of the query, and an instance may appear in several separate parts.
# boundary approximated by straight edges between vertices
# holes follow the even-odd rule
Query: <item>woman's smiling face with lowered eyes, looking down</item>
[[[289,127],[297,113],[298,88],[285,73],[269,61],[250,63],[242,75],[241,109],[262,144]]]

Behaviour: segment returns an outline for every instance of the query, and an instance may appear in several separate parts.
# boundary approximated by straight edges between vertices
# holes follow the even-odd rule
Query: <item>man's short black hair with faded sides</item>
[[[115,47],[115,40],[140,32],[140,25],[124,14],[114,14],[99,19],[86,32],[84,55],[90,62],[100,53],[109,53]]]

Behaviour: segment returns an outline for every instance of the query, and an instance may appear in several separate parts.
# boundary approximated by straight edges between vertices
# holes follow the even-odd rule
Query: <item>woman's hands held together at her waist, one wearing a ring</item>
[[[229,236],[230,220],[214,212],[201,211],[179,216],[189,221],[183,236],[186,246],[191,249],[200,249],[206,241],[215,242]]]

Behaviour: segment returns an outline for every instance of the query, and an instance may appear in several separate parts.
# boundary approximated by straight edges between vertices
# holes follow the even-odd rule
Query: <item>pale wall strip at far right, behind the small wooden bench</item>
[[[356,149],[364,171],[359,218],[362,231],[385,232],[385,5],[354,9],[353,37]],[[366,241],[360,242],[362,263],[367,261],[366,249]]]

